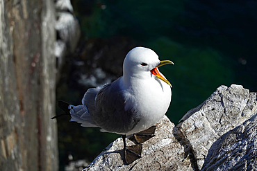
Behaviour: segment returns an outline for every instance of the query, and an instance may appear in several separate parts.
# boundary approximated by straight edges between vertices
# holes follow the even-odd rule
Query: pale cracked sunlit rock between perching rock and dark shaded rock
[[[188,111],[177,128],[188,141],[198,168],[217,139],[256,114],[256,93],[240,85],[219,87],[197,108]]]

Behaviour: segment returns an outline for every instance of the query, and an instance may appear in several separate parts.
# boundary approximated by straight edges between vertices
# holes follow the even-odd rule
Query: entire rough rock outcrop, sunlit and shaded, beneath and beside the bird
[[[256,93],[218,87],[176,127],[166,116],[160,120],[156,136],[143,143],[142,159],[125,165],[118,138],[85,170],[256,170],[256,110]]]

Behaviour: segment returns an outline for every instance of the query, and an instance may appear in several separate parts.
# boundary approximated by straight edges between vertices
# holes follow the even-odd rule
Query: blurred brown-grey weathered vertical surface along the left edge
[[[58,170],[53,1],[0,1],[0,170]]]

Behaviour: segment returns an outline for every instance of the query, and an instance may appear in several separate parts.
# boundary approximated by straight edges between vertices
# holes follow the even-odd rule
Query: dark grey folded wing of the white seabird
[[[119,79],[107,84],[97,93],[94,109],[91,106],[89,111],[95,123],[104,132],[125,134],[137,125],[139,119],[132,109],[125,110],[125,99],[119,88]]]

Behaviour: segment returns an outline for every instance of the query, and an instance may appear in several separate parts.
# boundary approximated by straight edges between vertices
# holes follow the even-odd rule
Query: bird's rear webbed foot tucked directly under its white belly
[[[131,136],[130,140],[134,141],[135,143],[144,143],[144,141],[149,140],[150,138],[154,137],[154,132],[156,131],[156,126],[149,127],[142,132],[138,132]]]

